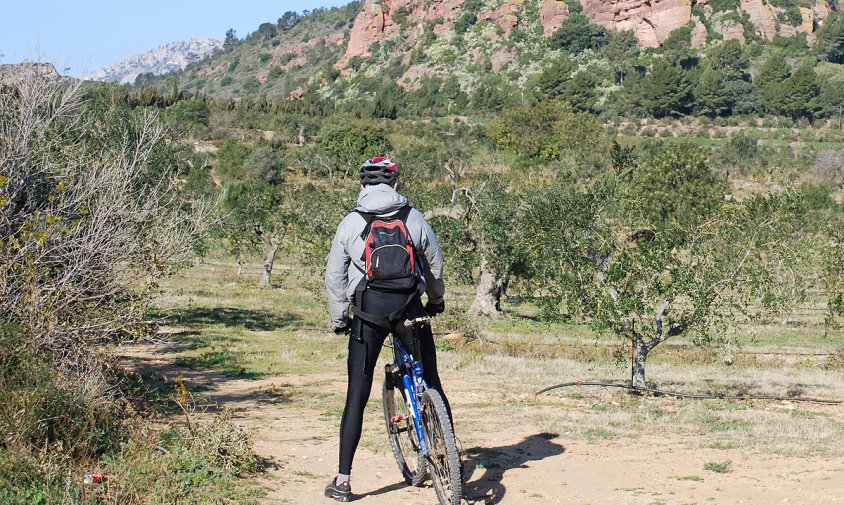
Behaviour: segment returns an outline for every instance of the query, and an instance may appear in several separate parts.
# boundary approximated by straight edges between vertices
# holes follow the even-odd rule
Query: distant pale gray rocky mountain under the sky
[[[140,74],[163,75],[183,70],[187,65],[202,60],[222,47],[222,40],[211,38],[171,42],[105,66],[84,76],[83,79],[132,84]]]

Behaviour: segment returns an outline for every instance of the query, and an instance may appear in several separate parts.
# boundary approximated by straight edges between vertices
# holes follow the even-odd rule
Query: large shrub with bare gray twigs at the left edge
[[[154,161],[155,114],[126,118],[92,113],[73,81],[0,75],[0,323],[71,368],[144,332],[154,280],[191,257],[211,208]]]

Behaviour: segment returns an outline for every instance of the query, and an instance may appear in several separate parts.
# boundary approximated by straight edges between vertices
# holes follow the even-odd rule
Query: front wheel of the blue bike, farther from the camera
[[[381,400],[390,447],[393,449],[393,456],[396,458],[404,481],[411,486],[419,487],[428,477],[428,462],[419,449],[416,430],[413,428],[410,409],[404,395],[395,387],[388,388],[387,380],[384,380]],[[403,420],[394,423],[393,419],[396,415],[403,416]]]

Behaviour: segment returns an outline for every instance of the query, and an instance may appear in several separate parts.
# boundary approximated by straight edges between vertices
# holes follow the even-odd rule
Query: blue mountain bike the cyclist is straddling
[[[413,330],[413,354],[393,335],[395,359],[385,368],[384,421],[393,455],[405,482],[421,486],[430,473],[442,505],[459,505],[462,496],[460,455],[454,429],[442,396],[428,389],[422,377],[419,356],[419,328],[431,318],[405,321]]]

